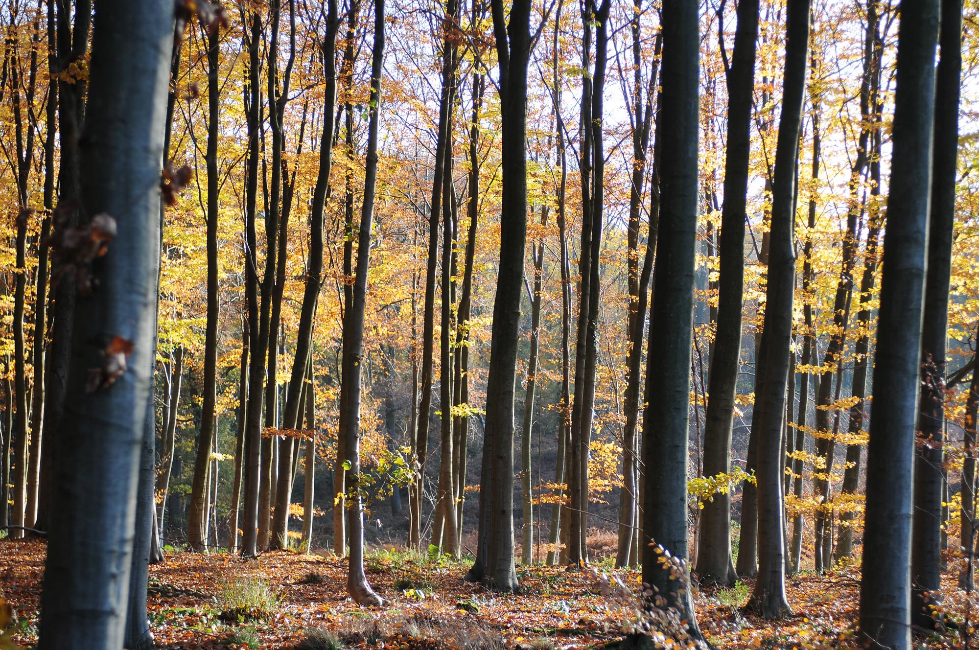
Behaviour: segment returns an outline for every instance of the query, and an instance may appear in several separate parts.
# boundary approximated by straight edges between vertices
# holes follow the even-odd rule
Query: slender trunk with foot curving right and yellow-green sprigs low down
[[[360,486],[360,373],[363,368],[364,305],[367,301],[367,269],[370,265],[370,231],[374,217],[377,185],[377,132],[381,113],[381,75],[384,70],[384,0],[374,0],[374,48],[371,57],[371,89],[368,103],[367,163],[364,169],[363,205],[357,234],[357,256],[353,276],[353,302],[344,314],[343,372],[340,388],[338,436],[345,441],[348,469],[348,523],[350,564],[347,590],[359,605],[380,606],[384,600],[374,593],[364,574],[364,520]]]

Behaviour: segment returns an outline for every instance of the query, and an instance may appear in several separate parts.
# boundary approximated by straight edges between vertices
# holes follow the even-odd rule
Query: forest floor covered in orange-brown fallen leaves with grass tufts
[[[0,540],[0,596],[15,610],[13,638],[22,647],[37,640],[44,553],[43,541]],[[637,572],[603,565],[596,567],[600,573],[618,573],[637,586]],[[374,609],[347,597],[347,562],[337,557],[285,551],[244,561],[227,553],[168,552],[150,569],[149,616],[157,647],[186,650],[574,650],[622,636],[591,572],[518,567],[521,592],[498,594],[463,581],[468,567],[375,549],[367,577],[390,602]],[[741,609],[751,580],[702,589],[697,618],[718,649],[855,647],[858,580],[857,567],[790,578],[794,616],[778,623]],[[947,582],[950,616],[962,620],[964,594],[953,576]],[[918,642],[919,648],[966,647],[957,630]]]

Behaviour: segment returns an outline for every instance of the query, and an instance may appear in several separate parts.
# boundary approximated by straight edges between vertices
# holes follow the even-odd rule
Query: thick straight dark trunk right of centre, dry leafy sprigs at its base
[[[661,348],[655,359],[651,354],[646,360],[642,580],[658,589],[687,622],[688,633],[699,638],[691,589],[677,584],[671,567],[660,563],[655,545],[677,558],[689,580],[686,481],[698,195],[697,6],[665,0],[662,20],[660,214],[649,331],[650,341]]]

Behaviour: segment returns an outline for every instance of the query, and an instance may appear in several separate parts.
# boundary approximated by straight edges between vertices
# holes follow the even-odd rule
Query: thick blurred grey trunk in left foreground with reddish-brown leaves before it
[[[116,650],[129,591],[150,398],[160,161],[173,6],[102,0],[79,141],[88,214],[116,219],[99,280],[76,302],[55,464],[39,648]],[[104,221],[104,218],[100,219]],[[94,389],[94,390],[88,390]]]

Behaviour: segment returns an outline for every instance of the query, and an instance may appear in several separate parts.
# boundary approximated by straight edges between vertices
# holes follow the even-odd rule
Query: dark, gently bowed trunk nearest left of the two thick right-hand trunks
[[[758,431],[758,580],[748,609],[767,619],[792,612],[785,597],[785,527],[782,481],[792,305],[795,293],[795,174],[806,88],[810,1],[788,4],[785,18],[782,109],[775,146],[769,238],[768,290],[762,346],[757,355],[759,389],[752,424]]]

